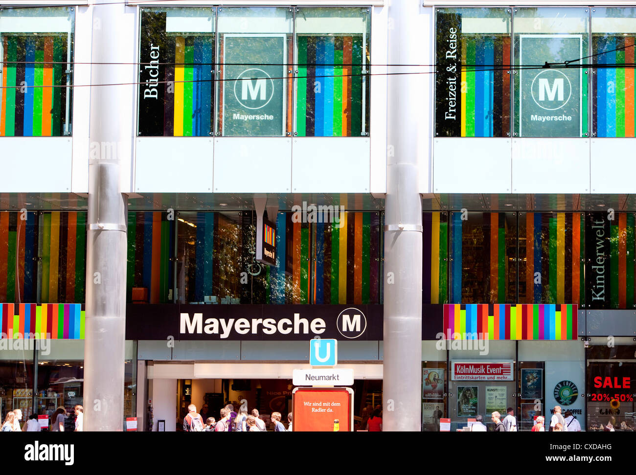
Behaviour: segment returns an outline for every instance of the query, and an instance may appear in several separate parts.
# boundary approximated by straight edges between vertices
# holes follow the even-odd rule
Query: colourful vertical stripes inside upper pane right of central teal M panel
[[[362,36],[297,37],[299,137],[359,137],[363,129]],[[367,101],[368,107],[368,101]]]

